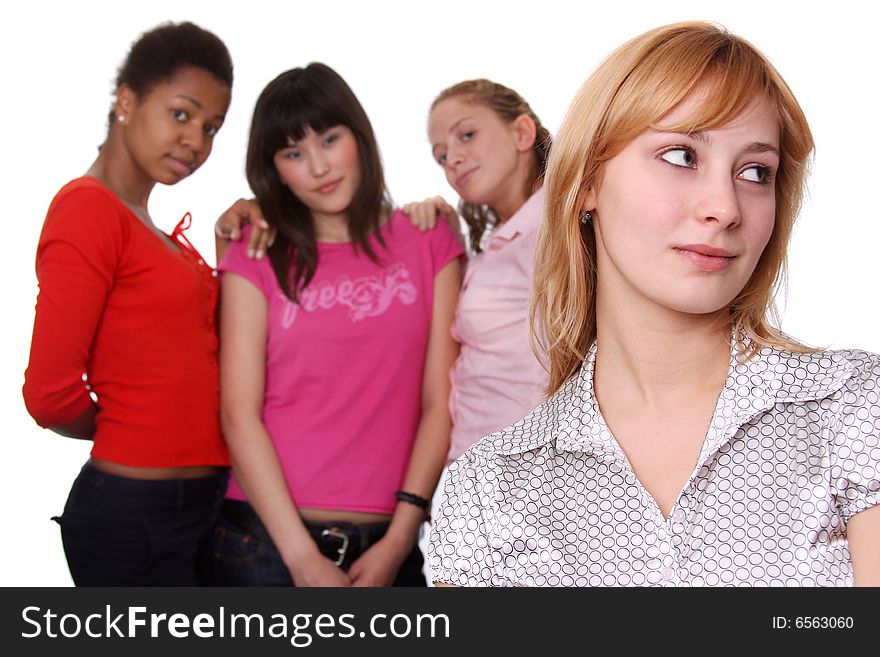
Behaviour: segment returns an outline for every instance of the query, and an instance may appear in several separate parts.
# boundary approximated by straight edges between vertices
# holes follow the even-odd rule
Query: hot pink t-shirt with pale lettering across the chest
[[[219,269],[269,302],[263,424],[294,503],[392,513],[421,412],[434,276],[463,249],[439,222],[426,233],[396,211],[371,238],[377,264],[351,244],[318,244],[300,295],[281,291],[268,258],[245,257],[247,235]],[[235,477],[227,497],[245,499]]]

